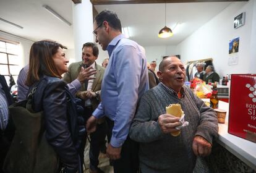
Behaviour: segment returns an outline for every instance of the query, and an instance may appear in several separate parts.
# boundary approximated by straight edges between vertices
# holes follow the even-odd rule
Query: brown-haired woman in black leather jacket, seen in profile
[[[79,129],[74,120],[77,116],[70,115],[69,90],[61,80],[61,75],[67,72],[68,62],[61,44],[36,41],[30,49],[26,85],[30,90],[36,86],[32,107],[35,112],[43,111],[46,140],[58,154],[65,171],[77,172],[80,167]]]

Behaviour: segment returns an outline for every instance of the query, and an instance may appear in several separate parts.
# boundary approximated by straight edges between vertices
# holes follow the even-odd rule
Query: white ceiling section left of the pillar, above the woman
[[[51,39],[68,48],[74,47],[72,25],[61,22],[43,5],[48,5],[72,23],[71,0],[0,0],[0,17],[16,23],[23,29],[0,21],[0,30],[33,41]]]

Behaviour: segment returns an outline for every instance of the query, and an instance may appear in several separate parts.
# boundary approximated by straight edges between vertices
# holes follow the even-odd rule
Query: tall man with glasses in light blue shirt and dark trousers
[[[114,172],[136,172],[138,166],[135,142],[128,137],[137,102],[148,90],[145,50],[122,35],[116,13],[102,11],[95,17],[93,34],[96,42],[109,54],[101,85],[101,103],[87,121],[87,132],[106,116],[111,140],[106,154],[113,159]]]

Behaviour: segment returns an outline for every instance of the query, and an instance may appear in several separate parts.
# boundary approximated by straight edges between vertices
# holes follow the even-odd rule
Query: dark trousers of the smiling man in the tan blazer
[[[106,138],[106,122],[97,124],[96,131],[90,134],[90,169],[95,170],[99,164],[100,149],[105,145]]]

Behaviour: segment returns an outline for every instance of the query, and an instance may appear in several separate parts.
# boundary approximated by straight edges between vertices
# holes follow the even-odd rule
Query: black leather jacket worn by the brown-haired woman
[[[69,172],[76,172],[79,167],[79,152],[76,147],[79,129],[77,116],[69,113],[68,108],[72,106],[69,105],[70,98],[67,99],[67,95],[69,91],[63,80],[44,76],[38,83],[32,106],[35,112],[44,112],[45,136],[49,144]]]

